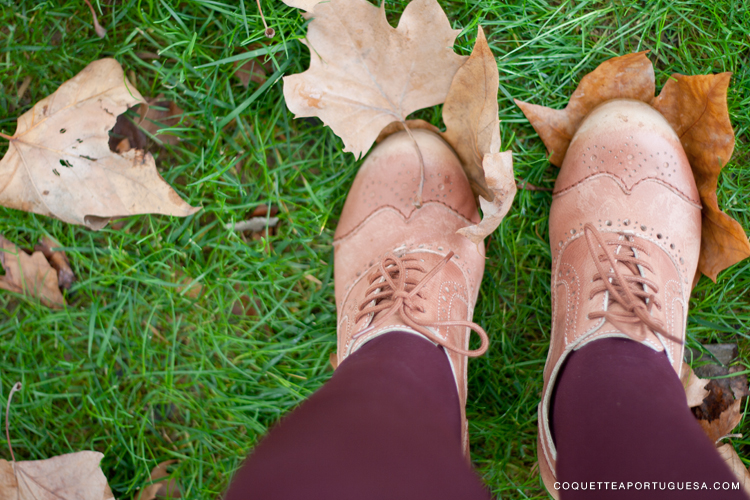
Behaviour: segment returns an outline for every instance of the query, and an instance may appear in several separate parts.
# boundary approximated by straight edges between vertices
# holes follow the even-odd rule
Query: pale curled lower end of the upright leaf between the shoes
[[[458,230],[458,234],[466,236],[479,245],[487,235],[492,233],[505,218],[516,196],[516,180],[513,177],[513,155],[510,151],[485,155],[484,177],[490,191],[494,195],[493,201],[479,197],[482,208],[482,220],[475,226],[468,226]]]

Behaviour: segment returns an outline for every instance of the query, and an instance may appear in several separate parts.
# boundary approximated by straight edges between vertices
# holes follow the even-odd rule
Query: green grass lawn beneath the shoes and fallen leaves
[[[217,498],[266,429],[331,374],[331,239],[358,163],[328,129],[286,109],[276,78],[309,60],[295,9],[263,2],[277,33],[266,41],[251,0],[93,3],[104,40],[83,2],[0,0],[0,132],[12,134],[18,115],[89,62],[115,57],[144,95],[164,93],[186,111],[176,128],[183,141],[152,151],[165,179],[203,210],[186,219],[130,217],[94,233],[0,209],[2,234],[25,246],[53,235],[79,279],[63,311],[0,293],[0,400],[24,383],[10,416],[19,459],[101,451],[115,496],[126,498],[158,462],[177,458],[186,497]],[[405,4],[389,2],[390,19]],[[562,107],[599,63],[646,49],[658,89],[672,72],[732,71],[737,147],[719,200],[750,228],[747,1],[441,4],[463,28],[460,52],[471,50],[476,25],[485,27],[500,66],[503,145],[514,151],[517,177],[538,186],[551,187],[557,172],[512,98]],[[269,56],[276,73],[266,88],[243,88],[231,63],[212,65],[256,42],[279,49]],[[160,57],[140,58],[145,52]],[[440,125],[436,110],[418,114]],[[470,367],[472,457],[502,498],[546,498],[533,466],[550,324],[550,202],[548,192],[518,193],[488,242],[475,317],[493,342]],[[279,209],[277,234],[254,240],[224,229],[261,203]],[[177,271],[202,284],[200,297],[175,284]],[[702,278],[689,343],[737,342],[750,366],[748,289],[747,261],[716,284]],[[258,316],[232,315],[246,294],[257,299]],[[739,432],[749,434],[750,423]],[[749,456],[750,438],[734,443]],[[10,458],[4,446],[0,457]]]

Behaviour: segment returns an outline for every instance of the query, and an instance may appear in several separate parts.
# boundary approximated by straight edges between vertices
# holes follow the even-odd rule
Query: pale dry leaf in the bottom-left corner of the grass
[[[109,500],[99,467],[101,453],[79,451],[46,460],[0,460],[0,498],[13,500]]]

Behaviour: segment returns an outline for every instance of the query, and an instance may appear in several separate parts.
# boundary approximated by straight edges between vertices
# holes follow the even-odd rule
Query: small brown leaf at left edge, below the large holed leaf
[[[47,307],[60,309],[65,299],[60,293],[57,272],[42,252],[29,255],[0,235],[0,289],[37,298]]]

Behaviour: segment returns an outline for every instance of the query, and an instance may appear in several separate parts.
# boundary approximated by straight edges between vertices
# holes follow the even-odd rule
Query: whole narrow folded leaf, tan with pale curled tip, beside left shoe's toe
[[[497,62],[479,27],[474,50],[453,77],[445,99],[442,134],[479,197],[481,222],[458,230],[476,245],[497,229],[516,195],[513,155],[500,152],[498,81]]]

